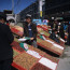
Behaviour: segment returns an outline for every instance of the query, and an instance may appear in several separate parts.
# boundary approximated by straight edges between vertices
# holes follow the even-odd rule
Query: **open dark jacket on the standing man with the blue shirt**
[[[29,37],[29,31],[28,31],[28,23],[24,23],[24,37]],[[31,26],[31,30],[32,30],[32,36],[34,38],[34,40],[37,40],[37,25],[36,24],[30,24]]]

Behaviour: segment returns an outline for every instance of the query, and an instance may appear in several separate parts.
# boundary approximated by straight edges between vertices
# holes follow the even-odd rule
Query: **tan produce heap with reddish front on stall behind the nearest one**
[[[37,38],[37,42],[40,46],[42,46],[45,50],[48,50],[55,54],[61,55],[64,50],[60,50],[59,47],[54,46],[52,43],[48,43],[46,41],[43,41],[39,38]]]

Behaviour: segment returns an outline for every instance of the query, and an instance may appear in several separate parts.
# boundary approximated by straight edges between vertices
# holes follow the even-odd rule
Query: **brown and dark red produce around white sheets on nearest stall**
[[[58,64],[57,58],[52,57],[52,56],[45,54],[44,52],[42,52],[36,47],[32,47],[32,46],[30,46],[29,50],[39,53],[42,57],[50,59],[52,62],[55,62],[57,66],[57,64]],[[17,66],[19,66],[19,68],[15,67],[18,70],[24,70],[24,69],[25,70],[52,70],[48,67],[45,67],[44,65],[39,62],[41,60],[41,58],[36,58],[36,57],[29,55],[27,52],[24,52],[24,53],[17,55],[17,57],[14,58],[13,62],[15,62]],[[43,62],[45,62],[45,61],[43,60]]]

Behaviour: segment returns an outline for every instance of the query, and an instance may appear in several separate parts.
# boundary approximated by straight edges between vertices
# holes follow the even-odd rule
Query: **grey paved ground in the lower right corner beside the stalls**
[[[66,46],[64,55],[59,59],[57,70],[70,70],[70,46]]]

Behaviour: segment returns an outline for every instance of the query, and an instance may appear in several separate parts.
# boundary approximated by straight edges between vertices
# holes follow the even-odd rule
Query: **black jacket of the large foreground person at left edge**
[[[13,58],[13,50],[10,45],[13,40],[10,27],[0,23],[0,60]]]

